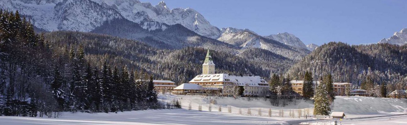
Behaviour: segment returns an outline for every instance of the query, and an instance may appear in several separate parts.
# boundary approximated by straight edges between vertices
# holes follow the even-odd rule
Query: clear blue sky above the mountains
[[[161,0],[141,0],[156,5]],[[218,28],[289,32],[305,44],[376,43],[407,28],[407,0],[165,0],[197,10]]]

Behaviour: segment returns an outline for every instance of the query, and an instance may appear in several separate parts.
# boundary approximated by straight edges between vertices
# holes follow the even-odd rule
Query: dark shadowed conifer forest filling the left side
[[[0,114],[55,117],[62,111],[162,108],[153,75],[120,61],[96,63],[84,44],[48,39],[35,34],[18,11],[0,11]]]

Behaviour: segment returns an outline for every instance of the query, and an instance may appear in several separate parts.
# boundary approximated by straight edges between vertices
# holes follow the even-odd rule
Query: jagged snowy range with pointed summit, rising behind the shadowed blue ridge
[[[148,22],[161,22],[168,25],[181,24],[197,34],[210,38],[217,38],[219,34],[221,34],[217,27],[212,26],[203,15],[194,9],[175,8],[170,10],[164,1],[161,1],[155,6],[151,5],[149,2],[140,2],[138,0],[92,1],[103,6],[107,6],[111,9],[115,9],[126,19],[139,24]],[[150,29],[148,27],[143,28],[155,30],[159,29],[160,27],[153,27],[154,29]]]

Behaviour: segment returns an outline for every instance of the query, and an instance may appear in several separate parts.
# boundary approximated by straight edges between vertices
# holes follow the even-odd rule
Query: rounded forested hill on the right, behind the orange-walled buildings
[[[293,65],[287,73],[300,75],[311,71],[314,80],[332,73],[335,82],[361,84],[371,77],[374,83],[382,82],[405,88],[407,73],[407,45],[370,44],[348,45],[330,42]]]

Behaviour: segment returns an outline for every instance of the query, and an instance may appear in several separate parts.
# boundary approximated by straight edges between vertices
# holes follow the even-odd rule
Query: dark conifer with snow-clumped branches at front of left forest
[[[50,83],[50,91],[53,94],[55,100],[58,102],[58,110],[63,111],[65,105],[65,92],[61,89],[63,84],[63,79],[59,69],[57,67],[54,68],[54,77]]]

